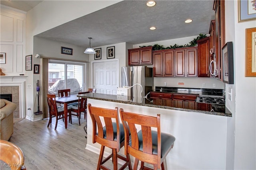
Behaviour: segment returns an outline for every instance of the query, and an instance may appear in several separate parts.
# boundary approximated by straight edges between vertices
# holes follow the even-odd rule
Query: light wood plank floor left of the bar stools
[[[54,117],[49,127],[49,119],[35,122],[23,119],[14,124],[10,142],[18,145],[23,151],[26,169],[95,170],[99,155],[85,149],[86,121],[80,119],[79,126],[78,119],[72,116],[72,124],[68,123],[68,128],[65,129],[64,122],[60,119],[55,131],[55,120]],[[104,165],[113,169],[111,160]]]

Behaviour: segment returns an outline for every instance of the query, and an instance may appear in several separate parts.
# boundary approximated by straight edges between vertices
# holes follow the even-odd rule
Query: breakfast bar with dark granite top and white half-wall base
[[[123,108],[132,113],[161,116],[161,131],[176,137],[174,148],[166,156],[167,169],[225,169],[227,122],[230,113],[158,106],[145,98],[129,98],[108,94],[78,95],[96,107]],[[88,113],[89,114],[89,113]],[[92,143],[92,120],[88,115],[86,149],[100,153],[100,145]],[[139,130],[139,129],[138,129]],[[111,152],[111,150],[106,150]],[[120,150],[124,154],[124,149]],[[104,155],[108,156],[108,155]],[[134,158],[131,158],[134,162]],[[199,163],[200,162],[200,163]]]

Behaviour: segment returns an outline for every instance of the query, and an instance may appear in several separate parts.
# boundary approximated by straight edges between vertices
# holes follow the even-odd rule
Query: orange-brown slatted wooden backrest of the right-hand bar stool
[[[142,162],[161,165],[161,131],[160,131],[160,114],[157,117],[140,115],[136,113],[125,112],[120,109],[121,120],[125,131],[125,153],[128,153]],[[141,127],[142,140],[138,138],[138,132],[135,125]],[[152,131],[151,127],[157,130],[157,153],[153,153],[152,148]],[[129,142],[129,130],[131,141]],[[142,141],[142,143],[140,143]],[[143,147],[143,148],[141,148]]]

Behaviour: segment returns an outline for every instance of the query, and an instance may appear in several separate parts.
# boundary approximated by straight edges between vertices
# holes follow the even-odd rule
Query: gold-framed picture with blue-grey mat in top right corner
[[[238,0],[238,22],[256,20],[255,4],[254,0]]]

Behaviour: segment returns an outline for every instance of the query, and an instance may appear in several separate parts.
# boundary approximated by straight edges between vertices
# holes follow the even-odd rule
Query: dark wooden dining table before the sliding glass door
[[[68,104],[78,102],[78,94],[71,94],[70,96],[56,97],[56,103],[64,104],[64,121],[65,128],[68,127]]]

